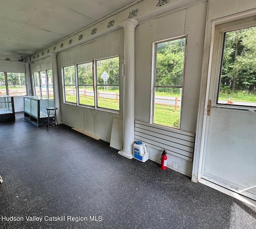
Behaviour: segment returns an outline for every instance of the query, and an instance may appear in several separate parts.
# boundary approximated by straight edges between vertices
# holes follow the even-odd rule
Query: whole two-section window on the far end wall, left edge
[[[26,96],[25,73],[0,72],[0,95]]]

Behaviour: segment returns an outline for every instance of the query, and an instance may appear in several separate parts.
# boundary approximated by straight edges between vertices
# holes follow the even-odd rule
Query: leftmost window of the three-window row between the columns
[[[63,68],[65,102],[77,103],[76,100],[76,74],[75,66],[67,66]]]

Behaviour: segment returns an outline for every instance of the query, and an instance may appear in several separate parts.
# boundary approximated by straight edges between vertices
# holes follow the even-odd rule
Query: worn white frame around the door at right
[[[249,10],[246,12],[241,12],[238,14],[234,14],[232,16],[226,16],[223,18],[219,18],[212,21],[206,21],[206,30],[205,30],[205,38],[204,38],[204,55],[202,62],[202,74],[201,74],[201,85],[200,85],[200,98],[198,105],[198,116],[197,116],[197,125],[196,125],[196,137],[195,137],[195,145],[194,145],[194,158],[193,158],[193,168],[192,168],[192,181],[200,182],[209,187],[212,187],[218,191],[226,193],[236,199],[240,199],[241,201],[245,201],[249,204],[256,206],[256,201],[244,197],[238,193],[230,191],[229,189],[223,188],[219,185],[216,185],[210,181],[206,181],[201,178],[202,175],[202,163],[204,156],[204,136],[208,134],[207,125],[209,124],[209,119],[206,119],[207,115],[207,105],[209,99],[209,91],[210,91],[210,75],[211,69],[213,65],[213,52],[214,52],[214,38],[216,32],[216,26],[220,24],[226,24],[229,22],[233,22],[235,20],[243,20],[252,16],[256,16],[256,10]]]

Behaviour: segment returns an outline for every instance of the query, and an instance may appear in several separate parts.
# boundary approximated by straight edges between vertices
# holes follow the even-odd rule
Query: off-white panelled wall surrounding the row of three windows
[[[101,58],[120,55],[120,114],[94,110],[63,103],[61,69],[63,66],[88,62]],[[113,118],[122,118],[122,60],[124,56],[124,31],[119,30],[96,40],[60,52],[57,56],[60,85],[60,104],[62,122],[71,127],[90,133],[110,142]]]

